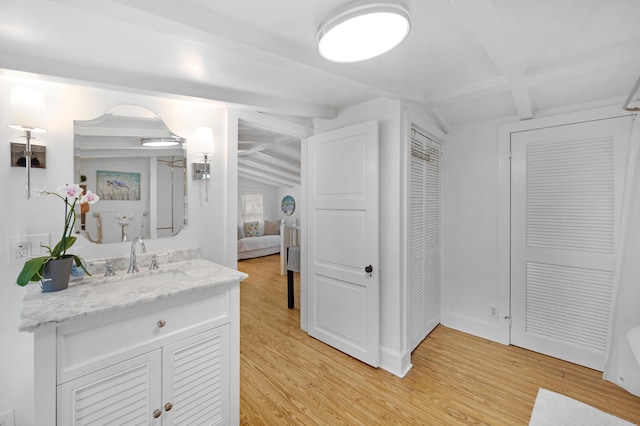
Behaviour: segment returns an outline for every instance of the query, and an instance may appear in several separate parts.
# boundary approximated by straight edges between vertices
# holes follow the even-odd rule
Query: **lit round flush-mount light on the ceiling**
[[[357,62],[393,49],[409,35],[409,12],[393,2],[357,1],[318,28],[318,53],[332,62]]]

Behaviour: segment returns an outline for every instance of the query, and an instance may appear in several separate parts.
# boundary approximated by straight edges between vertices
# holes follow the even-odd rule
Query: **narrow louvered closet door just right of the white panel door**
[[[411,138],[408,341],[411,350],[440,323],[440,145]]]

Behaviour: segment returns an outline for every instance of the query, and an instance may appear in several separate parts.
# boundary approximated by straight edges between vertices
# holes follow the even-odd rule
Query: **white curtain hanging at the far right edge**
[[[634,117],[622,206],[615,296],[604,379],[640,396],[640,359],[629,332],[640,327],[640,120]],[[637,348],[636,351],[640,351]]]

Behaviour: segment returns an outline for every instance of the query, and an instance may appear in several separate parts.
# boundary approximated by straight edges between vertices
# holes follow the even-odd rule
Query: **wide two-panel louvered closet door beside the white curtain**
[[[630,127],[512,134],[512,344],[602,370]]]

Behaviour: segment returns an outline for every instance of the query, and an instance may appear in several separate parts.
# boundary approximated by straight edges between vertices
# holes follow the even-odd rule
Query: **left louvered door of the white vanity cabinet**
[[[160,425],[160,350],[58,386],[58,425]]]

